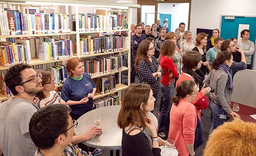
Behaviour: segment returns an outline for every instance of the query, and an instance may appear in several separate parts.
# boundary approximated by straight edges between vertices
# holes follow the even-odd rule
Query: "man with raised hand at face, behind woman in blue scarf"
[[[236,51],[241,53],[241,62],[235,62],[233,60],[233,63],[230,67],[230,69],[232,69],[232,70],[230,70],[232,77],[234,77],[234,75],[237,71],[244,70],[247,68],[246,60],[245,60],[244,52],[243,52],[242,48],[237,47],[235,45],[235,43],[231,41],[231,39],[226,39],[225,41],[223,41],[223,43],[220,45],[220,50],[221,51],[227,50],[232,54],[235,53]]]

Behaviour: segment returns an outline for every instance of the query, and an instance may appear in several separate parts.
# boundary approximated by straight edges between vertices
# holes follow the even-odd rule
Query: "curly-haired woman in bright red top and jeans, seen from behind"
[[[160,117],[158,121],[159,136],[165,138],[164,127],[169,127],[169,113],[171,110],[171,98],[175,93],[175,78],[178,78],[179,74],[177,67],[173,63],[173,57],[175,50],[175,44],[170,39],[167,39],[161,45],[161,59],[160,64],[164,70],[164,75],[161,78],[160,88],[163,93],[163,107],[160,110]]]

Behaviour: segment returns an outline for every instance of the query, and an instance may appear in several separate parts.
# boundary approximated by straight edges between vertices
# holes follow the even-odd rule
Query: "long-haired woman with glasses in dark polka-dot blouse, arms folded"
[[[143,40],[138,47],[134,66],[140,78],[140,83],[150,85],[153,96],[156,99],[156,105],[159,92],[159,78],[164,74],[164,70],[153,56],[154,51],[155,47],[152,42],[147,39]]]

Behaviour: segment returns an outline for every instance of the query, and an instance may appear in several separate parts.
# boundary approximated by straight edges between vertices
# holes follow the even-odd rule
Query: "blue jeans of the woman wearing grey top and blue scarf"
[[[224,122],[228,121],[228,113],[223,110],[222,107],[216,105],[213,101],[211,101],[211,112],[212,112],[212,122],[211,122],[211,130],[209,135],[216,129],[218,126],[222,125]],[[226,119],[220,119],[220,115],[226,115]]]

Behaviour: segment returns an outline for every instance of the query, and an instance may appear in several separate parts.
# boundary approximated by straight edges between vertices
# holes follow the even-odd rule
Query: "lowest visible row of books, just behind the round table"
[[[93,100],[94,108],[101,108],[105,106],[119,105],[119,96],[115,94],[110,94],[99,99]]]

